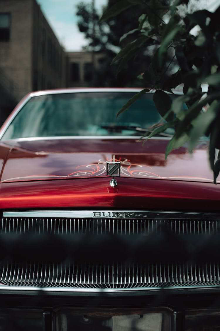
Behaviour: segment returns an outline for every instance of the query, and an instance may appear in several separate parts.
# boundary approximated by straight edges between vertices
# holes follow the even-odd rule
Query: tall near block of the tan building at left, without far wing
[[[35,0],[0,1],[0,69],[17,98],[66,86],[66,53]]]

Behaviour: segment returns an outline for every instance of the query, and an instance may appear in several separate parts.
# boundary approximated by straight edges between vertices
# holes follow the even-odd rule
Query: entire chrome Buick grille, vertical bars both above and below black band
[[[199,236],[201,240],[218,235],[218,215],[183,213],[105,212],[110,217],[88,217],[94,212],[17,212],[4,213],[2,235],[65,236],[110,235],[148,238],[164,231],[177,236]],[[111,214],[109,214],[111,213]],[[122,212],[121,212],[122,213]],[[43,215],[45,214],[46,217]],[[64,214],[64,217],[61,217]],[[82,214],[82,215],[81,215]],[[95,214],[99,214],[96,212]],[[126,217],[128,215],[134,217]],[[37,217],[34,217],[37,216]],[[50,215],[51,217],[49,217]],[[112,216],[113,215],[113,216]],[[70,217],[73,216],[73,217]],[[80,217],[79,217],[80,216]],[[84,217],[82,217],[84,216]],[[73,237],[75,238],[75,237]],[[78,261],[1,262],[0,282],[8,285],[71,288],[150,288],[158,286],[220,285],[220,261]]]

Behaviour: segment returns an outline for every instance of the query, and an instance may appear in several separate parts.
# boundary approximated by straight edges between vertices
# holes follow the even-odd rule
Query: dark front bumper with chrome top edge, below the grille
[[[209,287],[79,293],[1,286],[0,330],[217,331],[219,295]]]

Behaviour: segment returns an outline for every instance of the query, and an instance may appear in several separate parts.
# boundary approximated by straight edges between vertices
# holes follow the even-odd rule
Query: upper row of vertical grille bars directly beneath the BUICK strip
[[[1,233],[147,235],[167,229],[176,235],[212,235],[220,232],[219,225],[218,219],[3,217]]]

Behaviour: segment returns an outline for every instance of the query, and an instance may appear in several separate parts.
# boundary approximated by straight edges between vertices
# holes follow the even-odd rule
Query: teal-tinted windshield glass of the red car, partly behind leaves
[[[146,93],[116,118],[135,95],[131,92],[77,92],[32,97],[12,120],[1,140],[24,137],[139,135],[161,116]],[[176,97],[172,95],[172,98]],[[173,128],[167,134],[173,134]]]

